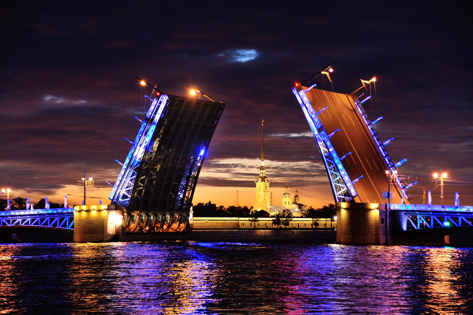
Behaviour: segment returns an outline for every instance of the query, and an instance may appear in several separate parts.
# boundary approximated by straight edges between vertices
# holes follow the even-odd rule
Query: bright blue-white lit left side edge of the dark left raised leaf
[[[143,154],[150,144],[151,137],[158,124],[158,120],[166,107],[169,97],[162,94],[159,99],[155,98],[151,103],[146,119],[140,127],[138,135],[131,146],[130,152],[123,163],[122,170],[118,175],[109,199],[123,206],[128,206],[131,198],[131,190],[135,183],[138,168],[140,167]]]

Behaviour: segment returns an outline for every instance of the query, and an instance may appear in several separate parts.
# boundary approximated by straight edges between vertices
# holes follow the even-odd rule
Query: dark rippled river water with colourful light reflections
[[[0,244],[0,313],[471,314],[473,248]]]

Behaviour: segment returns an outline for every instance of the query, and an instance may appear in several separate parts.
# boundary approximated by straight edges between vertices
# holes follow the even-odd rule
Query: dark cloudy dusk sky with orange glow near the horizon
[[[413,2],[413,1],[412,1]],[[165,93],[195,86],[227,105],[204,162],[194,203],[252,206],[261,118],[274,204],[286,182],[301,202],[333,203],[326,172],[291,92],[336,60],[334,90],[350,93],[380,72],[371,120],[403,175],[421,187],[443,166],[473,179],[472,19],[455,1],[10,1],[1,7],[0,186],[10,197],[109,203],[140,122],[135,75]],[[324,89],[322,78],[315,80]],[[328,81],[325,81],[327,84]],[[329,89],[329,85],[326,85]],[[149,90],[148,90],[149,92]],[[147,105],[149,104],[149,101]],[[141,106],[141,110],[140,110]],[[147,107],[148,108],[148,107]],[[420,180],[424,178],[424,180]],[[420,187],[420,188],[419,188]],[[473,204],[473,186],[446,186]],[[439,189],[433,203],[439,204]],[[5,196],[2,196],[5,197]],[[88,204],[98,203],[88,199]]]

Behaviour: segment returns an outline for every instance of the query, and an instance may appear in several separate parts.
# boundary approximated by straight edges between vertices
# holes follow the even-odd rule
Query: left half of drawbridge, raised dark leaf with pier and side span
[[[126,159],[119,162],[111,204],[2,211],[0,228],[73,230],[77,242],[190,237],[194,190],[225,104],[199,90],[187,98],[140,83],[151,88],[145,95],[151,104],[143,120],[136,117],[141,126]]]

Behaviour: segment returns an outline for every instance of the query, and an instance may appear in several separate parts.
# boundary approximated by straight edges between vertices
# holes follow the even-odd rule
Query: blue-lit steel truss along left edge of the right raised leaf
[[[307,118],[310,129],[312,130],[312,134],[315,137],[320,153],[322,154],[322,160],[324,161],[325,170],[327,171],[332,186],[335,202],[348,202],[353,200],[353,198],[358,196],[358,193],[350,180],[350,176],[348,176],[348,173],[345,171],[342,161],[338,157],[338,153],[333,148],[330,137],[327,135],[324,126],[322,126],[318,117],[319,113],[315,112],[303,88],[296,89],[294,87],[292,88],[292,92],[296,95],[302,111]]]

